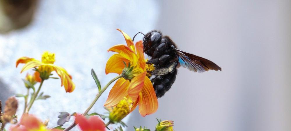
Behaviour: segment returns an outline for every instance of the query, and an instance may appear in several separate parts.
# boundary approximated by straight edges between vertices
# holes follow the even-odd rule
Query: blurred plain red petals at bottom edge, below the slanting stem
[[[83,115],[75,115],[75,117],[82,131],[105,131],[105,125],[98,116],[91,116],[89,119]]]

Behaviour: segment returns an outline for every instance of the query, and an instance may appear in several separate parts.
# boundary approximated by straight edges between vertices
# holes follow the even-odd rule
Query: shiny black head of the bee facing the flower
[[[161,38],[162,38],[162,33],[159,31],[151,31],[145,34],[143,38],[143,52],[148,54],[149,49],[153,46],[158,45],[158,43],[161,41]]]

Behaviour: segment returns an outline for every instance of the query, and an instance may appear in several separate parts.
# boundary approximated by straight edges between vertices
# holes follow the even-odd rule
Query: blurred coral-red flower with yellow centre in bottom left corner
[[[24,114],[18,125],[12,126],[11,131],[61,131],[59,129],[47,129],[35,116]]]

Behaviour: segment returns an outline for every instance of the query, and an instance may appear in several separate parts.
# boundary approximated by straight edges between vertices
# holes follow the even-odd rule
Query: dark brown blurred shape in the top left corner
[[[35,13],[38,0],[1,0],[0,33],[27,26]]]

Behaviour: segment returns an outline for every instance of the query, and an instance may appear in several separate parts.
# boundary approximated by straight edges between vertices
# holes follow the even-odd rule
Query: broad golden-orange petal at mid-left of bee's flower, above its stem
[[[125,63],[129,63],[128,59],[125,59],[123,56],[120,54],[113,54],[107,61],[106,67],[105,67],[105,73],[117,73],[121,74],[122,70],[124,68],[124,61]]]

